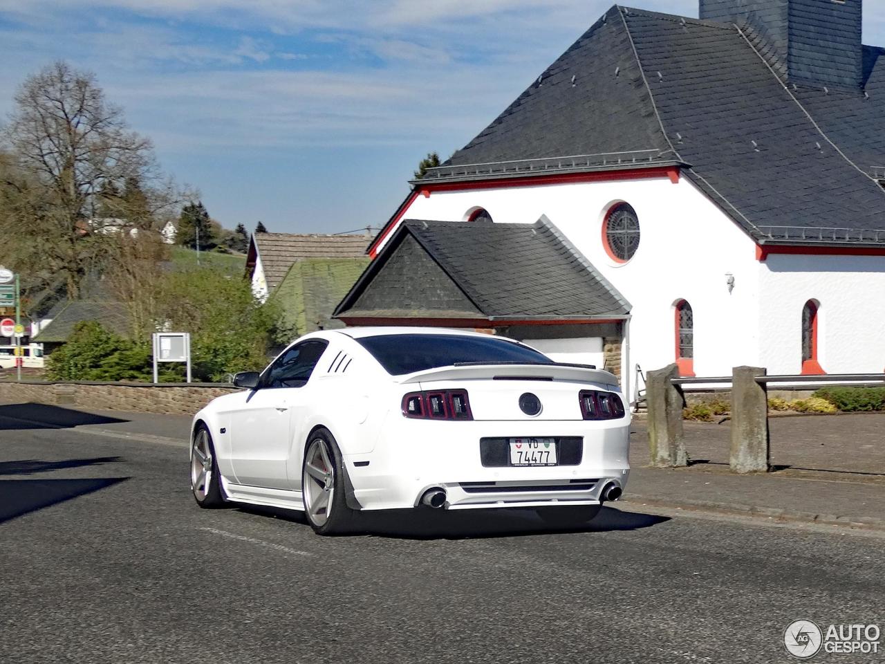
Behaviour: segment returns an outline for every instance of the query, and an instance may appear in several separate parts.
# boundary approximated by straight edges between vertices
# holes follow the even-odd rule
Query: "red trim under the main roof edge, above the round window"
[[[419,185],[396,210],[396,213],[384,228],[381,229],[374,242],[369,246],[369,256],[375,258],[378,248],[385,242],[403,219],[405,212],[412,206],[415,198],[422,195],[430,197],[435,191],[471,191],[475,189],[505,189],[508,187],[537,187],[544,184],[573,184],[576,182],[605,182],[614,180],[644,180],[650,178],[669,178],[671,182],[679,181],[679,166],[650,166],[646,168],[624,168],[611,171],[594,171],[592,173],[567,173],[558,175],[529,175],[524,177],[500,178],[498,180],[473,180],[466,182],[427,182]]]

